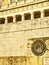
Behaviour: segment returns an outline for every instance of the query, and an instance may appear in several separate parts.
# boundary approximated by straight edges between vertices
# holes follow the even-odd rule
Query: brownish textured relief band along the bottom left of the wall
[[[0,64],[1,65],[25,65],[26,63],[26,57],[20,56],[20,57],[1,57],[0,58]]]

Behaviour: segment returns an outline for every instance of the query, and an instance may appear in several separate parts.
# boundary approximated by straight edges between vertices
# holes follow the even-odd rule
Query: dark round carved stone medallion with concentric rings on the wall
[[[36,40],[31,45],[31,50],[34,55],[42,56],[46,52],[46,44],[43,40]]]

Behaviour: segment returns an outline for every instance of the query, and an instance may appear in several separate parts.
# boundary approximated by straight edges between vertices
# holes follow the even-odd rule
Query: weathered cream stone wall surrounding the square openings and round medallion
[[[0,9],[0,18],[5,18],[5,24],[0,24],[0,65],[49,65],[49,17],[44,17],[49,1],[21,0],[10,5],[8,1],[4,0]],[[36,11],[41,12],[41,18],[34,19]],[[31,14],[30,20],[24,20],[25,13]],[[23,19],[17,22],[19,14]],[[7,22],[9,16],[14,19],[12,23]],[[32,53],[35,40],[45,42],[44,55]]]

